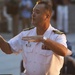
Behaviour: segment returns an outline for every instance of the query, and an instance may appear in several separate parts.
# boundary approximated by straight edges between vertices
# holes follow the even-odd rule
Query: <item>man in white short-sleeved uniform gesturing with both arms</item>
[[[49,2],[39,1],[33,8],[33,29],[22,31],[9,42],[0,36],[2,51],[7,54],[22,51],[24,75],[59,75],[64,56],[71,54],[65,35],[50,24],[51,14]]]

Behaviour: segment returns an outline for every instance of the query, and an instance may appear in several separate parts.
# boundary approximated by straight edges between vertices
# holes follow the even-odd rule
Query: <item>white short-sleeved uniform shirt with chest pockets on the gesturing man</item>
[[[43,36],[50,38],[66,46],[66,37],[64,34],[55,34],[51,25]],[[30,42],[22,40],[24,36],[36,36],[36,27],[34,29],[23,31],[9,41],[13,52],[23,54],[23,64],[26,69],[26,75],[59,75],[63,66],[64,57],[55,54],[52,50],[42,49],[42,42]]]

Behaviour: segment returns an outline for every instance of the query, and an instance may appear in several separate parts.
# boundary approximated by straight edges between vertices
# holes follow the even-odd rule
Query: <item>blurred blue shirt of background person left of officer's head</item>
[[[30,18],[31,11],[29,11],[29,9],[32,9],[32,7],[33,7],[32,0],[21,0],[20,7],[21,6],[27,7],[21,11],[21,16],[25,17],[25,18]]]

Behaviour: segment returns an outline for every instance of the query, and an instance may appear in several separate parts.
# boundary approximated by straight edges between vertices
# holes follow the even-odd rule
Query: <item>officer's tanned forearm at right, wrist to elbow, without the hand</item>
[[[55,52],[58,55],[61,56],[66,56],[66,55],[71,55],[72,52],[66,48],[64,45],[55,42],[51,39],[43,39],[42,41],[50,50],[52,50],[53,52]]]

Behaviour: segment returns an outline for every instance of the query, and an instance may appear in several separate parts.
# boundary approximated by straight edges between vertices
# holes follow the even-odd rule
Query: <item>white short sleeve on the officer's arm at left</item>
[[[22,51],[22,33],[10,39],[8,43],[10,44],[11,49],[14,53],[19,53],[20,51]]]

